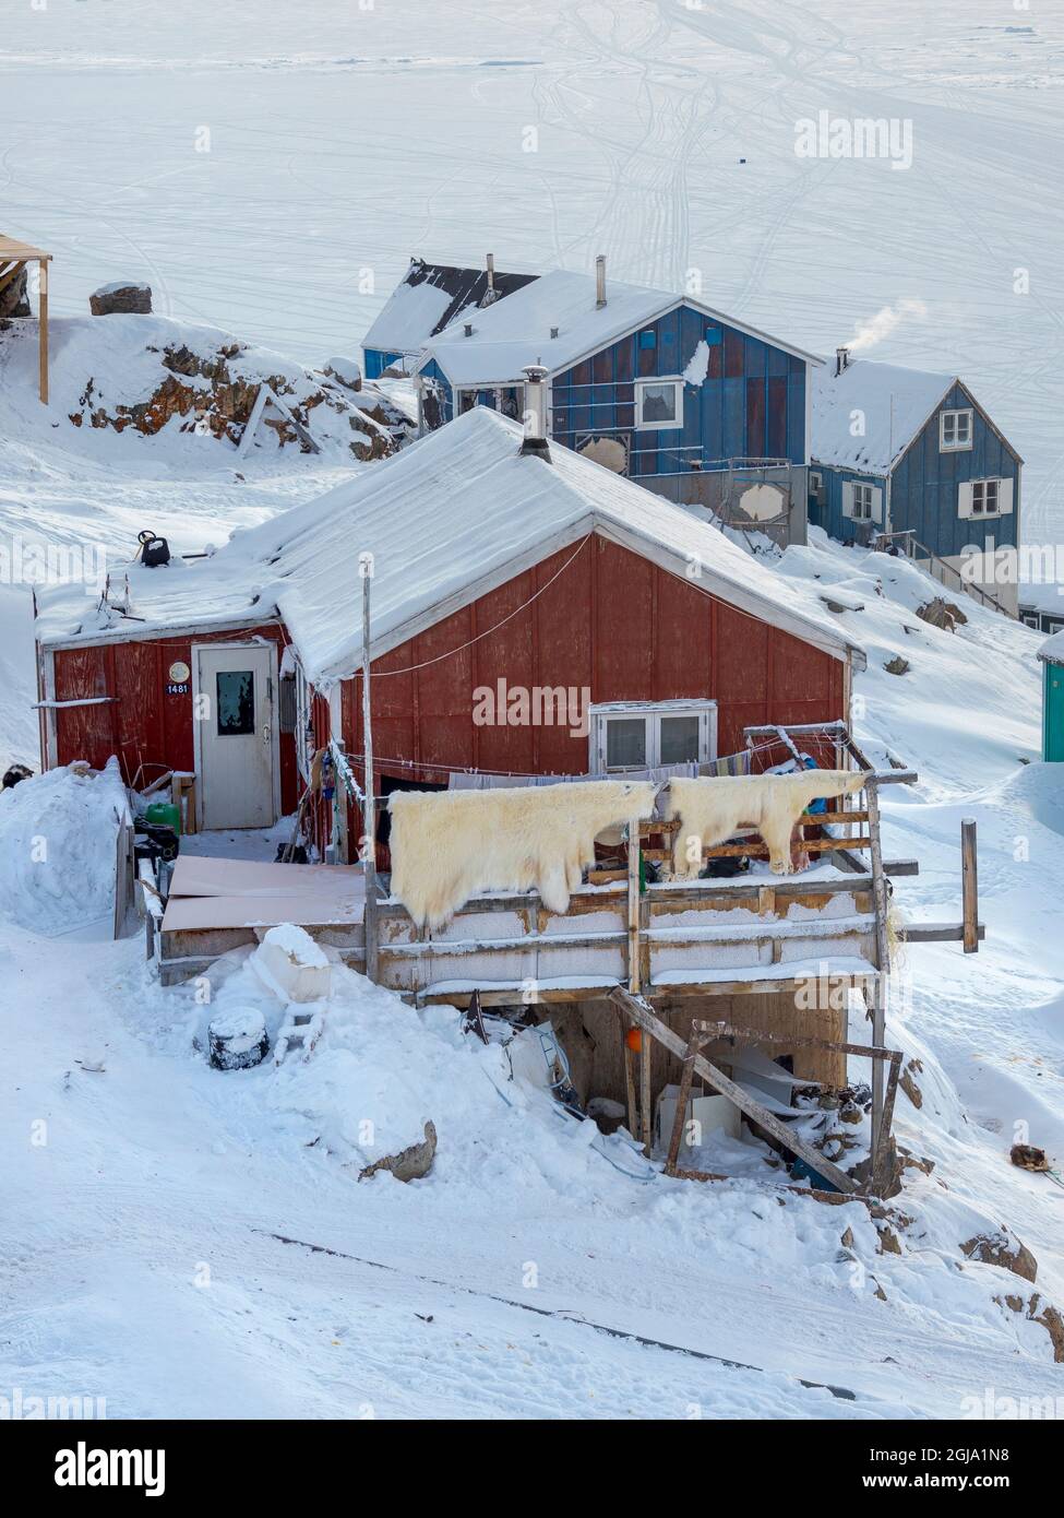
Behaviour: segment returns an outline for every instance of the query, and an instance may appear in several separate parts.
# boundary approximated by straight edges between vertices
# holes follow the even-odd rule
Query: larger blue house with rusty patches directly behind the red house
[[[548,370],[551,437],[691,507],[804,542],[811,372],[820,364],[689,296],[552,270],[431,337],[422,430],[474,405],[522,414]]]

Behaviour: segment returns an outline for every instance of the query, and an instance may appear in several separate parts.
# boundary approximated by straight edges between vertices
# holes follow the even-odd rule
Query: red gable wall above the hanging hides
[[[562,550],[375,662],[378,782],[381,774],[442,779],[433,765],[584,773],[587,739],[568,729],[474,723],[474,689],[499,677],[508,686],[589,686],[592,701],[715,698],[721,754],[744,747],[747,726],[847,716],[838,659],[598,536],[512,616],[571,554]],[[452,650],[461,651],[439,659]],[[343,736],[361,753],[360,677],[343,686]]]

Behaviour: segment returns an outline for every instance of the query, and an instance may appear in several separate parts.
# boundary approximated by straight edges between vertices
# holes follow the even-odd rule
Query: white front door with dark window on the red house
[[[272,827],[276,650],[202,644],[193,656],[200,827]]]

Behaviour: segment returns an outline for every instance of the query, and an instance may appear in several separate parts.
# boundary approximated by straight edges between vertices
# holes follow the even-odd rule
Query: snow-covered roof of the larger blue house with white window
[[[777,337],[721,316],[701,301],[680,298],[669,290],[607,279],[606,305],[597,307],[593,275],[554,269],[507,301],[452,322],[439,337],[425,343],[419,367],[434,358],[455,386],[521,383],[521,370],[534,363],[546,364],[551,373],[559,373],[682,304],[788,354],[817,364],[821,361]],[[472,325],[471,337],[464,334],[464,322]],[[551,337],[554,328],[557,337]]]

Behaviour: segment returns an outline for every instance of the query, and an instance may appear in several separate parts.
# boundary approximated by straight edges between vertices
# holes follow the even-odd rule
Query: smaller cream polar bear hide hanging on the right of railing
[[[672,839],[672,870],[678,876],[697,876],[703,865],[701,850],[722,844],[745,823],[760,833],[773,873],[789,874],[791,835],[809,803],[853,795],[864,783],[861,770],[669,780],[668,815],[682,818],[683,824]]]

